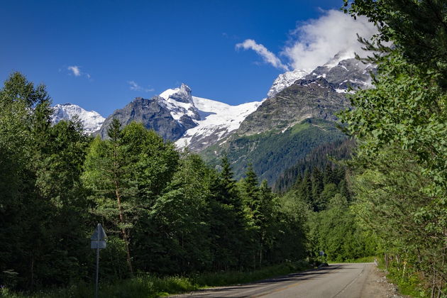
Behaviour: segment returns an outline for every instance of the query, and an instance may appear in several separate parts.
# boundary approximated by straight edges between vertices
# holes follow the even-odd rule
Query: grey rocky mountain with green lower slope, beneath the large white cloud
[[[272,185],[314,148],[346,138],[336,128],[336,114],[350,108],[349,88],[370,87],[374,71],[373,65],[338,55],[307,74],[297,72],[302,78],[286,82],[285,89],[274,86],[275,95],[248,115],[237,131],[201,155],[211,165],[227,155],[238,178],[251,162],[258,176]]]

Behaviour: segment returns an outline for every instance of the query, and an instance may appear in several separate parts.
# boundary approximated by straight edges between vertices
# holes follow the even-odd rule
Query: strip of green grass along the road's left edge
[[[264,267],[252,272],[214,272],[191,275],[189,277],[155,277],[153,275],[140,275],[128,280],[120,280],[110,284],[101,284],[99,297],[119,298],[154,298],[165,297],[170,294],[191,292],[204,287],[218,287],[236,285],[246,282],[263,280],[268,277],[286,275],[292,272],[308,269],[309,263],[300,261],[283,263],[280,265]],[[92,297],[94,286],[89,284],[71,285],[65,288],[50,289],[32,294],[11,292],[1,288],[0,297],[6,298],[84,298]]]

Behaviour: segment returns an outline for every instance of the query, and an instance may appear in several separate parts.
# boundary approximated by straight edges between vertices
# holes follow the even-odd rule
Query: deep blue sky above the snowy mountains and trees
[[[103,116],[182,82],[228,104],[260,100],[277,75],[315,56],[309,35],[331,27],[318,23],[330,13],[344,18],[331,11],[342,2],[2,1],[0,78],[22,72],[54,104]]]

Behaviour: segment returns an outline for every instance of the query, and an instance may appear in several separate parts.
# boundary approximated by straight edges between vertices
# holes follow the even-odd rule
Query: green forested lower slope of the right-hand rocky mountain
[[[251,163],[260,180],[272,184],[314,148],[343,138],[332,121],[308,118],[283,132],[272,129],[250,136],[233,135],[226,143],[206,148],[201,155],[211,165],[219,165],[221,156],[227,155],[237,179]]]

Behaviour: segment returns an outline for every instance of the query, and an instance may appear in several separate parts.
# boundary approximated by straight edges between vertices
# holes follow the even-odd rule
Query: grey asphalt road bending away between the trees
[[[380,297],[370,288],[373,263],[333,264],[247,285],[204,289],[174,297],[358,298]]]

